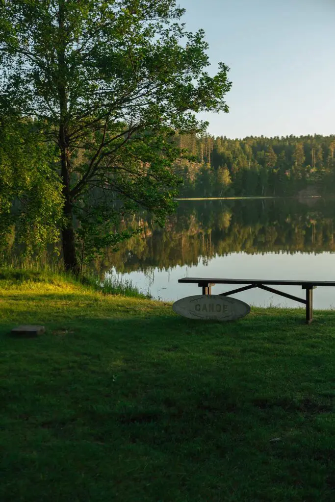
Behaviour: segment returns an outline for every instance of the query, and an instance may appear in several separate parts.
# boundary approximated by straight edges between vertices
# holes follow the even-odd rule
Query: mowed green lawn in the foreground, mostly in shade
[[[335,312],[303,321],[0,281],[0,500],[335,500]]]

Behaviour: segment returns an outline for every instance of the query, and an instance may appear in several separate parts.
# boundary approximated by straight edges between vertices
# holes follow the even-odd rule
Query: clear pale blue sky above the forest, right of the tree
[[[230,112],[203,113],[208,133],[335,134],[335,0],[180,0],[202,28],[210,67],[230,67]]]

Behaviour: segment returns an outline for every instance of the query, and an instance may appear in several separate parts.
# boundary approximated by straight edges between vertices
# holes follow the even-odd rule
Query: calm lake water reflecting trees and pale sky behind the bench
[[[335,201],[265,199],[180,201],[164,229],[145,230],[110,254],[108,268],[140,291],[170,301],[201,294],[182,277],[335,280]],[[212,293],[236,286],[217,285]],[[304,297],[301,288],[280,287]],[[257,306],[303,307],[259,289],[236,298]],[[335,308],[335,288],[317,288],[314,307]]]

